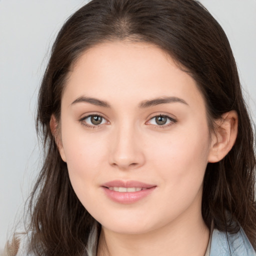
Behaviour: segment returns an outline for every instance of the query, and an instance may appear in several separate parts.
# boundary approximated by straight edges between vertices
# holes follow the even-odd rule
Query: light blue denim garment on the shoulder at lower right
[[[220,255],[256,256],[256,252],[242,228],[234,234],[213,229],[210,244],[210,256]]]

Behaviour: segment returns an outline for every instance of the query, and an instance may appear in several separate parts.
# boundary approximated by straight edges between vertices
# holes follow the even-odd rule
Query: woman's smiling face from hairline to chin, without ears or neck
[[[59,151],[103,228],[142,233],[200,217],[210,134],[195,81],[142,42],[84,52],[61,101]]]

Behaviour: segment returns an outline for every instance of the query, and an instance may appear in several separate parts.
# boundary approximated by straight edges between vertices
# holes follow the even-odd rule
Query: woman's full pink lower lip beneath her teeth
[[[144,190],[135,192],[117,192],[110,190],[107,187],[102,187],[105,194],[113,201],[119,203],[133,203],[149,195],[155,188],[155,186],[146,188]]]

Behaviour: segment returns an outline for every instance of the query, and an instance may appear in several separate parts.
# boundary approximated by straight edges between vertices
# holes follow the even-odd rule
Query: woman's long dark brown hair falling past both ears
[[[256,247],[254,135],[241,94],[235,60],[224,31],[196,0],[92,0],[72,14],[53,44],[38,96],[37,132],[44,162],[31,193],[30,245],[36,255],[84,255],[95,222],[75,195],[66,163],[50,132],[70,66],[104,41],[130,39],[157,45],[196,81],[205,98],[209,128],[234,109],[238,135],[219,162],[208,163],[202,216],[208,227],[244,229]]]

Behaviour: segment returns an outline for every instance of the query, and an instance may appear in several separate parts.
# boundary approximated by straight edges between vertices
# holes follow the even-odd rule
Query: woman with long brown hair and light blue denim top
[[[254,135],[228,40],[197,1],[76,11],[37,131],[45,158],[19,255],[255,255]]]

